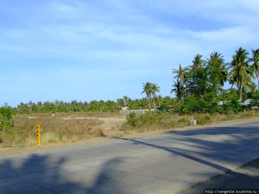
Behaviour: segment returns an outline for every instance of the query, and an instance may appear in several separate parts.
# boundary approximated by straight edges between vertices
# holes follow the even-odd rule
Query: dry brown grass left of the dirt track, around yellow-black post
[[[85,139],[102,137],[103,131],[99,126],[104,122],[92,118],[72,118],[64,120],[73,114],[31,114],[14,115],[14,127],[9,131],[1,131],[1,147],[24,147],[37,144],[36,126],[41,126],[41,144],[76,142]],[[87,117],[76,114],[77,117]]]

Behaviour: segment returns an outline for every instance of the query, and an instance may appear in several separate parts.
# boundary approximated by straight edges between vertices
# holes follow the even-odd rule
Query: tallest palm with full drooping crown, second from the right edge
[[[233,60],[228,63],[227,66],[231,68],[228,73],[228,80],[233,85],[237,85],[239,91],[240,102],[242,101],[242,86],[246,86],[252,82],[251,78],[254,78],[252,69],[250,68],[249,53],[240,47],[236,50],[236,54],[233,55]]]

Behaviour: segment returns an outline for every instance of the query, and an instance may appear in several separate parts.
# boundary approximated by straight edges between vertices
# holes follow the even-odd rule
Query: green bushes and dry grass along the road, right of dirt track
[[[254,117],[258,117],[259,113],[255,112]],[[208,114],[194,113],[193,119],[197,120],[197,125],[216,124],[229,120],[237,120],[243,118],[252,118],[252,111],[245,110],[235,113],[228,112],[226,114]],[[134,112],[127,115],[127,122],[121,127],[124,134],[136,134],[157,131],[175,131],[190,126],[192,116],[188,114],[172,114],[170,112],[146,112],[145,114],[136,115]]]

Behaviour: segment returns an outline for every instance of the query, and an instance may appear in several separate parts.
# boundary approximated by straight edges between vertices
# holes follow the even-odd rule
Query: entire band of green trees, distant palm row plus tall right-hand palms
[[[227,110],[239,111],[244,107],[240,102],[247,98],[259,100],[258,86],[253,82],[257,79],[259,73],[259,49],[252,50],[252,57],[248,57],[249,52],[240,47],[232,56],[232,61],[225,63],[224,56],[218,52],[210,54],[209,58],[202,59],[202,55],[196,54],[192,60],[192,64],[182,67],[179,64],[178,69],[172,69],[174,81],[171,93],[175,93],[176,97],[161,95],[160,87],[156,83],[146,82],[143,84],[143,91],[146,97],[141,99],[131,99],[126,95],[122,98],[113,100],[92,100],[82,102],[72,100],[64,102],[62,100],[38,101],[34,103],[19,103],[17,107],[11,108],[8,103],[4,107],[11,108],[12,112],[17,113],[45,113],[45,112],[115,112],[116,106],[127,105],[129,110],[149,109],[166,104],[172,104],[177,107],[174,111],[180,113],[191,114],[193,112],[220,112],[224,113]],[[223,89],[224,83],[229,82],[232,87]],[[236,86],[237,89],[233,88]],[[153,97],[153,103],[151,99]],[[230,101],[231,104],[218,106],[218,101]],[[256,101],[258,102],[258,101]],[[255,103],[256,103],[255,102]],[[223,109],[223,110],[222,110]]]

